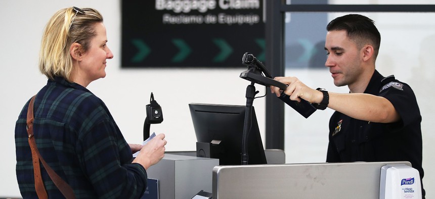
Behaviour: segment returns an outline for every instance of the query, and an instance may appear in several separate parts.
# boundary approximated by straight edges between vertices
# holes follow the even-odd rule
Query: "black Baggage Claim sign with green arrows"
[[[122,2],[122,67],[245,67],[265,61],[263,0]]]

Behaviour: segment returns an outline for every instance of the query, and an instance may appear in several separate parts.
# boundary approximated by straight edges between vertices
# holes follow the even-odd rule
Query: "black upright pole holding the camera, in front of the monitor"
[[[243,137],[242,137],[242,165],[247,165],[249,156],[247,152],[247,140],[249,131],[251,129],[251,110],[252,110],[252,104],[254,102],[255,94],[258,93],[258,91],[255,91],[254,82],[251,82],[250,85],[246,87],[246,112],[245,112],[245,122],[243,126]]]

